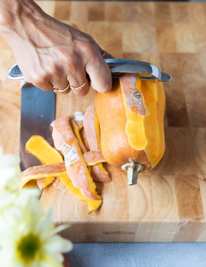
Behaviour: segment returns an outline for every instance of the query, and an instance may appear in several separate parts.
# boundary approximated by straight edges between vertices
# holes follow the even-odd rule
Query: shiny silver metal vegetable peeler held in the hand
[[[122,73],[139,73],[141,79],[155,80],[161,82],[168,82],[171,76],[167,73],[161,72],[157,66],[139,60],[133,59],[104,59],[108,64],[111,75],[113,77],[120,77]],[[144,76],[146,74],[146,76]],[[24,76],[19,69],[17,63],[8,69],[7,77],[9,79],[24,79]]]

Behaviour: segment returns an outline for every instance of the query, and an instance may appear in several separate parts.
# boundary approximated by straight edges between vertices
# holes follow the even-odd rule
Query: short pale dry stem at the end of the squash
[[[144,165],[135,161],[127,162],[121,166],[127,172],[128,185],[137,184],[138,174],[144,169]]]

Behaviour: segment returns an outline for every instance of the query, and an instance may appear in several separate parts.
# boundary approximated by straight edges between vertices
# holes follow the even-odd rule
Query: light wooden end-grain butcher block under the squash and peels
[[[112,183],[96,182],[101,208],[52,186],[41,201],[55,207],[62,235],[73,242],[206,241],[206,3],[37,1],[48,14],[87,32],[116,58],[147,61],[166,73],[163,159],[127,186],[126,174],[107,166]],[[6,78],[15,63],[0,37],[0,140],[6,153],[19,153],[19,82]],[[88,96],[57,95],[56,117],[94,103]]]

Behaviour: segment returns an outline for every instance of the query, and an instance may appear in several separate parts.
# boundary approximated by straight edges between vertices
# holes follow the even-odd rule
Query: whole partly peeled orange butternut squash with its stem
[[[162,83],[125,73],[113,78],[110,92],[96,93],[95,107],[105,160],[127,171],[128,184],[136,184],[138,173],[154,168],[164,154]]]

